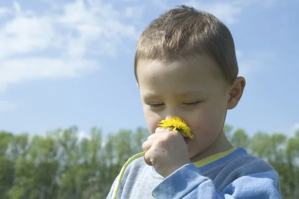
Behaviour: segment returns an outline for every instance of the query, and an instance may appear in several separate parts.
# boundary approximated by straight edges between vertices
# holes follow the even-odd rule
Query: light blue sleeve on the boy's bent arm
[[[192,163],[165,178],[152,191],[155,199],[282,199],[279,178],[274,172],[243,176],[222,192]]]

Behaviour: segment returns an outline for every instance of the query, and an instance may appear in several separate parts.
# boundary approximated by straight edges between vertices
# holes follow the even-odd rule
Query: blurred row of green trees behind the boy
[[[250,137],[229,125],[224,131],[234,146],[278,171],[284,199],[299,198],[299,131],[291,138],[264,132]],[[143,127],[105,137],[92,128],[89,138],[79,138],[76,126],[44,135],[0,131],[0,199],[105,199],[148,135]]]

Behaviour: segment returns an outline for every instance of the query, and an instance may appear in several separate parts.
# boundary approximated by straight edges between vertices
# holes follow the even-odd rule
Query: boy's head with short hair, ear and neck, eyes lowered
[[[170,9],[138,40],[135,76],[149,131],[169,116],[185,120],[195,135],[187,144],[190,159],[230,147],[223,135],[226,111],[237,105],[245,87],[237,75],[232,35],[207,12]]]

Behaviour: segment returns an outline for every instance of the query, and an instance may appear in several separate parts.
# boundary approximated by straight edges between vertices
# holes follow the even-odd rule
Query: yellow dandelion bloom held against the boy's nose
[[[161,128],[172,128],[180,132],[182,136],[188,136],[191,139],[194,137],[194,135],[190,133],[191,129],[187,126],[186,122],[178,116],[169,117],[166,120],[163,119],[159,123],[158,126]]]

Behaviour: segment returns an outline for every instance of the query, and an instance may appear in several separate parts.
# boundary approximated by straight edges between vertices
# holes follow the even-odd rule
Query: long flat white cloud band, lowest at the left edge
[[[96,61],[85,59],[64,59],[28,57],[0,62],[0,91],[6,85],[44,78],[74,78],[98,67]]]

